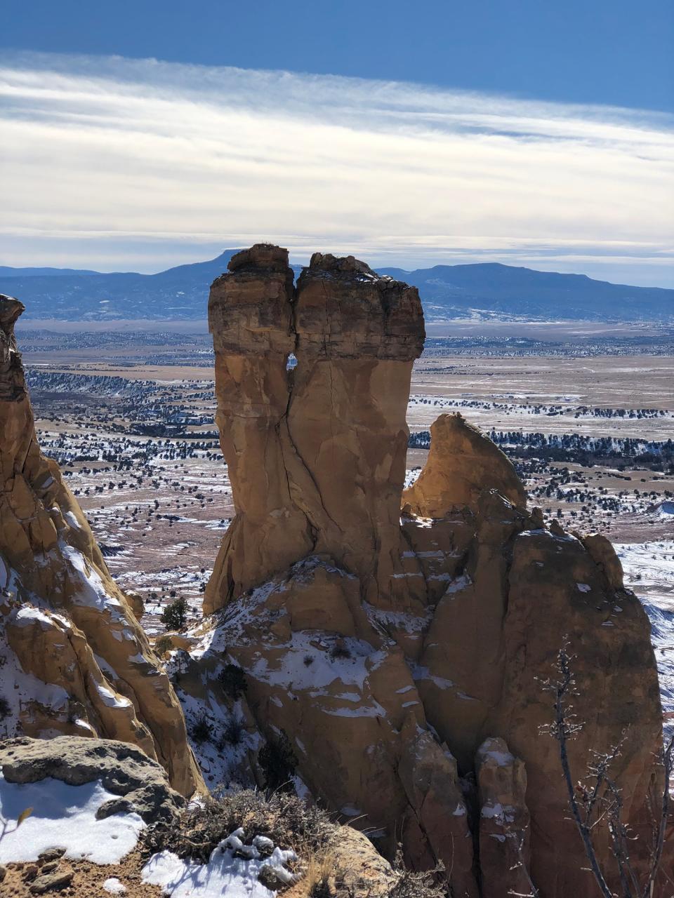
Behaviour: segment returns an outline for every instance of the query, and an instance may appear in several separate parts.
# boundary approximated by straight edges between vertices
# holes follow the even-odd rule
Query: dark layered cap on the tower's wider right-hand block
[[[297,348],[319,358],[412,362],[425,337],[416,287],[315,252],[297,280]]]

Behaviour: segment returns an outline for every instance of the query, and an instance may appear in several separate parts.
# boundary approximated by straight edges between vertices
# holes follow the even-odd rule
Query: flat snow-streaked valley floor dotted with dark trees
[[[234,515],[205,328],[130,322],[75,333],[37,323],[19,340],[44,451],[113,576],[143,597],[147,632],[164,629],[159,615],[175,596],[196,617]],[[432,421],[460,411],[510,455],[546,518],[606,533],[651,617],[674,720],[674,339],[513,327],[430,328],[412,375],[408,481],[425,462]]]

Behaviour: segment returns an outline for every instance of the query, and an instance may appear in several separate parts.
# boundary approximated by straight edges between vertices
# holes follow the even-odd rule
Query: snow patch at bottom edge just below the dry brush
[[[273,898],[258,880],[262,867],[271,867],[280,881],[291,883],[286,869],[295,860],[294,851],[274,848],[268,839],[257,836],[253,845],[244,845],[243,830],[236,830],[213,850],[208,864],[181,860],[171,851],[155,854],[143,867],[141,876],[150,885],[160,885],[171,898]]]

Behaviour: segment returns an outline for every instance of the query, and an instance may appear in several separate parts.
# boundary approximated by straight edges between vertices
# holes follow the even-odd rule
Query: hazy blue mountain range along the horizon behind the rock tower
[[[25,317],[32,319],[203,319],[208,287],[235,252],[154,275],[0,266],[0,293],[21,299]],[[609,284],[496,262],[377,270],[419,287],[427,321],[674,321],[674,290],[661,287]]]

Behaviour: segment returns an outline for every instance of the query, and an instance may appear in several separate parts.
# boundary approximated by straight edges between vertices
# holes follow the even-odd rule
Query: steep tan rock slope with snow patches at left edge
[[[0,295],[0,736],[120,739],[202,788],[182,709],[56,462],[40,452]]]

